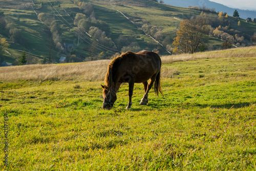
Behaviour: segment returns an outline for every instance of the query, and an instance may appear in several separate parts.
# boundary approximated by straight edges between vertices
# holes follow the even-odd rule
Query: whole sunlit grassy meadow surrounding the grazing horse
[[[163,56],[164,96],[151,91],[148,105],[140,106],[143,86],[136,84],[131,110],[125,110],[127,84],[117,93],[114,108],[102,110],[100,77],[78,71],[63,79],[0,74],[3,141],[4,116],[9,119],[9,166],[1,162],[0,169],[255,170],[254,52],[250,47]],[[94,62],[83,65],[90,63],[95,67]],[[107,63],[101,63],[103,75]],[[61,73],[61,66],[67,71],[78,65],[45,67]],[[7,69],[24,73],[22,67],[1,68],[0,73]],[[1,160],[4,147],[1,142]]]

